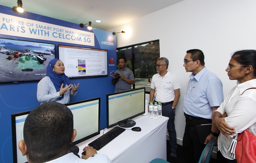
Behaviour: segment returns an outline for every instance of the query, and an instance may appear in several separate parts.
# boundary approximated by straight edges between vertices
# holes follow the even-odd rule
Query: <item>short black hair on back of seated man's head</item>
[[[43,103],[32,110],[23,133],[30,161],[47,162],[67,154],[73,127],[73,114],[61,103]]]

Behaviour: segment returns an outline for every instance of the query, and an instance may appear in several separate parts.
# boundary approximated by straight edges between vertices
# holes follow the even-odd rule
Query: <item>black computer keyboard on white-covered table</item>
[[[110,141],[112,141],[114,138],[116,138],[118,135],[120,135],[122,132],[124,132],[125,129],[121,127],[114,127],[112,130],[108,131],[101,137],[97,138],[93,142],[89,143],[89,146],[92,146],[97,151],[100,150],[103,146],[107,145]]]

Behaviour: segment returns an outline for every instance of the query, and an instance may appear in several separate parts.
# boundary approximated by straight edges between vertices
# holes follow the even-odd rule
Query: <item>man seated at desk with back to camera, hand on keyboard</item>
[[[67,106],[57,102],[43,103],[26,117],[24,140],[19,142],[19,149],[29,163],[111,163],[108,156],[97,154],[90,146],[83,148],[86,155],[82,155],[82,159],[69,153],[69,144],[76,136],[73,127],[73,114]]]

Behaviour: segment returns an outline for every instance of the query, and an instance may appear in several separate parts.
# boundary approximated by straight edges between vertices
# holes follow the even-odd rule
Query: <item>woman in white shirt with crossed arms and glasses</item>
[[[249,89],[256,87],[255,68],[255,50],[235,52],[226,68],[229,79],[237,80],[238,85],[231,89],[215,111],[213,121],[221,132],[218,150],[228,162],[236,162],[234,149],[238,133],[248,129],[256,135],[256,89]]]

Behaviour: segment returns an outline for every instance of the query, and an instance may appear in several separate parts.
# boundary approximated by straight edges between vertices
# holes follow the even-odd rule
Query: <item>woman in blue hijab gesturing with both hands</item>
[[[68,76],[64,73],[65,67],[61,60],[53,59],[49,62],[46,77],[37,84],[37,100],[39,103],[55,101],[58,103],[69,103],[70,96],[77,92],[77,86],[71,84]]]

